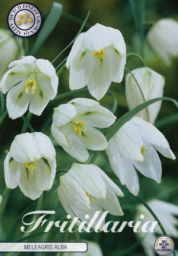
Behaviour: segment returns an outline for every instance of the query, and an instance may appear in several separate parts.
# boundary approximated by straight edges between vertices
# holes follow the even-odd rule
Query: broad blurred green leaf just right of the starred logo
[[[45,40],[49,37],[57,22],[62,14],[63,6],[60,3],[53,2],[52,7],[49,11],[47,18],[38,34],[38,37],[33,45],[31,55],[34,55],[36,51],[40,48],[40,46],[45,42]]]

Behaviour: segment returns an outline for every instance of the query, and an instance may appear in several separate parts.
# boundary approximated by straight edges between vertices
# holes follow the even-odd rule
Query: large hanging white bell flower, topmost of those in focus
[[[100,24],[81,33],[67,58],[71,90],[88,85],[89,93],[100,100],[111,82],[120,83],[126,63],[126,45],[121,32]]]

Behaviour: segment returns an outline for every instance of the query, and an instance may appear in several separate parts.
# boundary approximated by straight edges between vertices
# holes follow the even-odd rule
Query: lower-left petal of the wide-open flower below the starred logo
[[[32,94],[27,94],[24,88],[24,81],[8,91],[6,106],[9,118],[21,117],[28,109]]]

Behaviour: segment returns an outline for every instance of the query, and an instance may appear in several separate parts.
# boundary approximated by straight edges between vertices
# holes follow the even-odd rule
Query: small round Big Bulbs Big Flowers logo
[[[154,250],[158,255],[169,255],[174,250],[174,241],[168,236],[161,236],[154,242]]]

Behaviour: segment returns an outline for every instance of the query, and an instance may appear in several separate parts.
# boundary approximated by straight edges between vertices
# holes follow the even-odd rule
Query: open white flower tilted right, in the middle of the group
[[[51,134],[64,150],[80,162],[89,158],[87,149],[104,150],[105,136],[97,128],[111,126],[116,117],[98,102],[76,98],[54,109]]]

